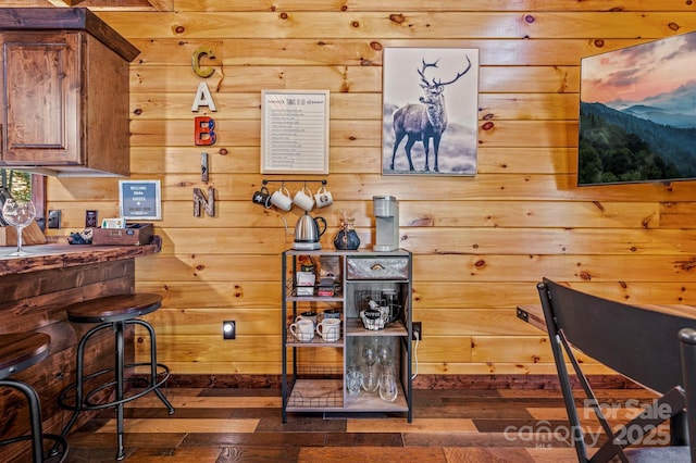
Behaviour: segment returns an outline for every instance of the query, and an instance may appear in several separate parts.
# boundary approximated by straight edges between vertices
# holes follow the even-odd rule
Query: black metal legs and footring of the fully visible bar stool
[[[133,364],[124,364],[124,329],[126,325],[140,325],[145,327],[150,335],[150,362],[140,362]],[[115,336],[115,366],[113,368],[105,368],[96,373],[91,373],[89,375],[84,374],[84,354],[85,354],[85,346],[87,341],[95,336],[97,333],[111,328],[113,329]],[[149,366],[149,378],[144,377],[134,377],[134,378],[125,378],[124,372],[126,368],[132,368],[135,366]],[[85,381],[89,379],[94,379],[107,373],[114,373],[115,379],[109,383],[105,383],[101,386],[98,386],[94,390],[86,392],[84,391]],[[137,318],[132,320],[117,320],[113,322],[104,322],[98,326],[91,328],[79,341],[77,347],[77,372],[76,372],[76,381],[69,385],[64,388],[58,399],[60,406],[66,410],[72,410],[74,413],[71,416],[70,421],[63,428],[61,433],[61,437],[65,437],[70,429],[73,427],[80,412],[84,411],[94,411],[94,410],[102,410],[108,408],[114,408],[116,410],[116,440],[117,440],[117,450],[116,450],[116,460],[123,460],[125,458],[125,448],[123,443],[123,405],[127,402],[136,400],[149,392],[154,392],[160,398],[162,403],[167,408],[169,414],[174,413],[174,406],[170,403],[170,401],[164,397],[160,387],[166,383],[170,378],[170,368],[166,365],[157,362],[157,345],[156,345],[156,335],[152,326]],[[124,391],[124,386],[126,383],[137,383],[139,380],[145,381],[145,387],[142,390],[134,393],[132,396],[126,396]],[[115,389],[115,399],[97,403],[94,402],[92,397],[103,390],[113,388]],[[74,391],[74,401],[71,400],[72,403],[69,403],[66,397],[69,392]]]

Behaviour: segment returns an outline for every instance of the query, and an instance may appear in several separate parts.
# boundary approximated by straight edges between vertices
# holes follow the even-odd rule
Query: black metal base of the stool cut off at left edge
[[[61,463],[65,461],[67,456],[67,441],[61,436],[53,434],[44,434],[41,425],[41,404],[36,390],[27,385],[15,379],[1,379],[0,387],[10,387],[18,390],[24,395],[29,405],[29,417],[32,421],[32,434],[27,436],[18,436],[0,441],[0,446],[8,446],[25,440],[32,441],[32,461],[34,463],[40,462],[55,462]],[[44,453],[44,439],[48,439],[54,442],[50,454]]]

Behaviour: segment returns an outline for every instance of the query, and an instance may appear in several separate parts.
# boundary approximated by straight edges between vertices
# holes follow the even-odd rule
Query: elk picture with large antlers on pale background
[[[475,175],[478,50],[386,48],[382,174]]]

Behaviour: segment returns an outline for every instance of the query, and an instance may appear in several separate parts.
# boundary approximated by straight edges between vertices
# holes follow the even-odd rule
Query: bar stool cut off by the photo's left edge
[[[0,335],[0,386],[10,387],[24,395],[29,405],[32,434],[0,441],[0,446],[32,441],[32,454],[35,463],[45,461],[44,439],[54,443],[51,460],[62,462],[67,456],[67,442],[61,436],[44,434],[41,425],[41,404],[36,390],[26,383],[9,377],[46,359],[49,353],[51,337],[44,333],[14,333]]]

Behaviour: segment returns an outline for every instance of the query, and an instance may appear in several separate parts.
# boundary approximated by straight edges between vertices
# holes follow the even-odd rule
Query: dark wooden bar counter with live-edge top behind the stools
[[[60,434],[69,412],[58,406],[60,391],[75,380],[75,350],[91,326],[71,324],[63,310],[73,302],[135,291],[135,259],[156,254],[161,239],[146,246],[94,246],[54,242],[27,246],[33,255],[11,258],[15,247],[0,248],[0,333],[42,331],[51,336],[49,356],[20,374],[38,391],[45,433]],[[133,329],[126,338],[126,361],[134,356]],[[113,337],[99,338],[86,358],[95,368],[113,365]],[[28,433],[27,409],[21,396],[0,390],[0,430]],[[89,418],[84,414],[77,428]],[[69,438],[70,440],[70,438]],[[28,447],[27,447],[28,449]],[[0,448],[0,461],[14,461],[16,446]]]

